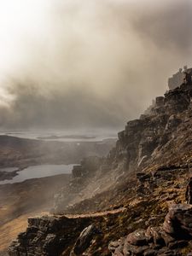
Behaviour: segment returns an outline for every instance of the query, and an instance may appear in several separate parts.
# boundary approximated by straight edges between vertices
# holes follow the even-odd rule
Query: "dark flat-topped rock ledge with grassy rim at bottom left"
[[[107,218],[119,217],[117,209],[99,214],[44,216],[28,218],[26,232],[20,233],[9,247],[9,255],[56,256],[83,255],[91,243],[103,237]]]

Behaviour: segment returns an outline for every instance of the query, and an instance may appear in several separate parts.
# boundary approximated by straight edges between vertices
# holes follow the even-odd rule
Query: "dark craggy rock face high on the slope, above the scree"
[[[114,149],[112,159],[124,159],[126,169],[142,169],[153,158],[157,157],[172,140],[177,126],[187,118],[190,105],[191,89],[182,86],[169,91],[165,97],[157,97],[154,108],[148,115],[130,121],[125,131],[119,132],[119,141]]]

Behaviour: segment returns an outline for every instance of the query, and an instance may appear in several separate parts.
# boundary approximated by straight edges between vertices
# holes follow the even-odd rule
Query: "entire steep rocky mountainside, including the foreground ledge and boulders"
[[[56,195],[60,216],[29,219],[9,255],[188,255],[192,84],[157,97],[107,158],[84,160]],[[88,167],[89,166],[89,167]],[[67,198],[70,193],[70,198]],[[68,203],[70,202],[70,205]],[[64,213],[81,215],[64,215]],[[142,228],[142,229],[141,229]]]

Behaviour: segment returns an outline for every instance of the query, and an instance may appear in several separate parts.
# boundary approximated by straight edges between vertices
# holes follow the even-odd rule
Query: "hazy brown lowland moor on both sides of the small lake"
[[[0,166],[5,168],[0,180],[11,179],[26,166],[79,163],[90,154],[102,156],[113,144],[113,139],[64,143],[0,136]],[[11,166],[17,166],[16,171],[7,172],[6,167]],[[54,195],[70,180],[71,175],[63,174],[0,185],[0,255],[4,256],[10,241],[26,229],[29,216],[49,212]]]

